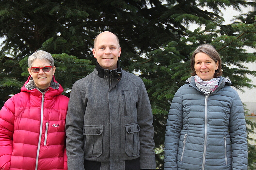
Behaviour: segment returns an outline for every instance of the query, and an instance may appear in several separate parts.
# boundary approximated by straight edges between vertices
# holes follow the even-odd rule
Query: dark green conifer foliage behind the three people
[[[27,57],[53,54],[56,80],[67,90],[95,66],[93,40],[102,31],[119,37],[121,67],[145,82],[154,114],[157,166],[163,168],[165,122],[171,100],[190,76],[190,57],[200,44],[215,46],[223,76],[238,90],[255,88],[243,63],[255,62],[255,12],[223,25],[221,10],[255,6],[251,0],[44,0],[0,1],[0,108],[26,81]],[[207,10],[206,10],[207,8]],[[210,10],[209,10],[210,9]],[[211,12],[212,11],[212,12]],[[190,31],[188,26],[198,28]],[[68,96],[68,93],[66,93]],[[247,121],[251,128],[254,123]],[[253,133],[252,129],[248,132]],[[249,164],[256,160],[249,146]]]

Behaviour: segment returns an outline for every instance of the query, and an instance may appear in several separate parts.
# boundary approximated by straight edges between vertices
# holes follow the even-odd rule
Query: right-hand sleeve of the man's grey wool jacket
[[[153,115],[148,93],[142,80],[141,86],[138,88],[138,94],[137,121],[140,126],[140,169],[155,169]]]

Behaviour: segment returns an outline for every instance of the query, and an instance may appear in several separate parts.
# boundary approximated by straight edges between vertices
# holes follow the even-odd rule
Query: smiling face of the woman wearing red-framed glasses
[[[45,67],[45,66],[51,66],[49,62],[46,60],[39,60],[36,59],[32,63],[32,67]],[[40,89],[46,89],[50,86],[51,80],[53,78],[53,74],[55,72],[55,66],[53,66],[49,72],[43,72],[42,69],[38,73],[34,73],[31,68],[28,68],[29,74],[32,76],[35,86]]]

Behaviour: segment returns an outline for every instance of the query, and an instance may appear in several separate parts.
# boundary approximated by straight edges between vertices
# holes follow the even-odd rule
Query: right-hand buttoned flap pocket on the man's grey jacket
[[[140,143],[139,143],[139,131],[140,127],[137,123],[125,125],[126,137],[125,137],[125,152],[128,156],[139,155]]]

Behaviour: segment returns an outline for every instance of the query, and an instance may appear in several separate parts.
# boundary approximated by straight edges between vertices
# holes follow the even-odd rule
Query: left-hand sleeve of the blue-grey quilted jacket
[[[164,142],[164,170],[177,170],[177,150],[183,125],[182,97],[180,90],[175,93],[169,110]]]

